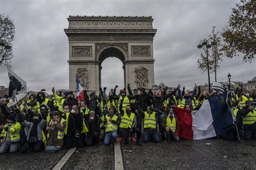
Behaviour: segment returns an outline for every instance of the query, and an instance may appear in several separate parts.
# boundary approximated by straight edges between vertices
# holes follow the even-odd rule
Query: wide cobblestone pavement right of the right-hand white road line
[[[222,139],[182,140],[121,147],[124,169],[256,169],[256,140],[241,144]]]

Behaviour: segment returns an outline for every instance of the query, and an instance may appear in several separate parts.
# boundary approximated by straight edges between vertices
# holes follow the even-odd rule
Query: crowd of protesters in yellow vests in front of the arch
[[[176,118],[173,107],[198,110],[208,98],[219,91],[201,91],[195,86],[193,91],[181,91],[180,85],[174,90],[145,91],[144,88],[131,90],[118,86],[106,94],[100,88],[99,95],[87,94],[84,100],[77,100],[73,91],[57,94],[52,88],[52,97],[45,97],[44,90],[30,94],[24,101],[7,107],[8,95],[0,100],[0,154],[20,151],[48,153],[63,148],[90,147],[115,143],[136,142],[142,145],[161,140],[179,141],[176,131]],[[234,124],[238,126],[241,138],[256,139],[256,93],[242,91],[242,86],[230,90],[228,104],[233,109]],[[219,137],[235,140],[238,137],[234,128]]]

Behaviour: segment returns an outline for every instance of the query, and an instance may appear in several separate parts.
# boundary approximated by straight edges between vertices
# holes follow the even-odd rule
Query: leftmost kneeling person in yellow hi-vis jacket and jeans
[[[6,120],[7,124],[0,125],[2,133],[0,135],[0,154],[6,153],[9,149],[10,153],[15,153],[18,150],[19,143],[19,130],[21,124],[15,121],[15,116],[10,114]]]

